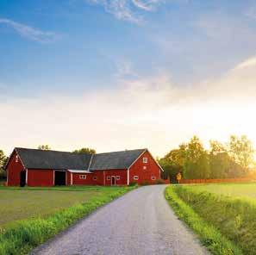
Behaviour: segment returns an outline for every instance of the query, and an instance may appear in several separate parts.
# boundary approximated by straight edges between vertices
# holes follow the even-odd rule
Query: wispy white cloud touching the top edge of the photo
[[[143,15],[141,11],[153,11],[164,0],[88,0],[87,2],[102,5],[119,20],[141,23]]]

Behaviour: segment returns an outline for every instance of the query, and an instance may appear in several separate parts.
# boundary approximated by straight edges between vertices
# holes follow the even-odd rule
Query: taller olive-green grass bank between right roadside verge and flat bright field
[[[237,184],[238,187],[239,185]],[[243,190],[244,187],[244,185],[240,186],[240,190]],[[216,195],[204,190],[197,190],[197,185],[179,186],[173,189],[178,197],[204,221],[239,246],[244,254],[255,254],[255,200]]]

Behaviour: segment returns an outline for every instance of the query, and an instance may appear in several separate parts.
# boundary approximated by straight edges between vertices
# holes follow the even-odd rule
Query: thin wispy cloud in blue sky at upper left
[[[14,22],[9,19],[0,18],[0,24],[13,28],[22,37],[26,37],[29,40],[39,41],[41,43],[53,42],[55,40],[58,40],[60,37],[59,34],[48,31],[42,31],[38,28],[32,28],[29,27],[28,25],[19,22]]]

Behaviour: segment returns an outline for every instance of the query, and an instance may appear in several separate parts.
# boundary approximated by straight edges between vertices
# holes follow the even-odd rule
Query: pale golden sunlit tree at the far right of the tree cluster
[[[253,144],[246,135],[231,135],[229,140],[229,153],[234,162],[240,165],[244,171],[248,171],[253,164]]]

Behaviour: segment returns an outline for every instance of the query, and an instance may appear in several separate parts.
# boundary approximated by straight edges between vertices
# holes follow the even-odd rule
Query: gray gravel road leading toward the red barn
[[[172,212],[165,185],[133,190],[31,254],[209,254]]]

